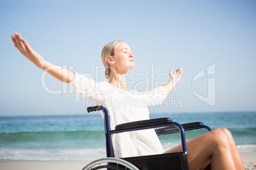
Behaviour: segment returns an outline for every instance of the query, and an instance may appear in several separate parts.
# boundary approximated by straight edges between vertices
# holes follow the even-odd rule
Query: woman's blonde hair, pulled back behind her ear
[[[103,60],[103,65],[105,67],[105,77],[106,79],[110,78],[110,64],[106,61],[106,56],[114,56],[115,49],[117,49],[118,44],[122,42],[120,40],[111,41],[106,46],[104,46],[103,51],[101,53],[101,59]]]

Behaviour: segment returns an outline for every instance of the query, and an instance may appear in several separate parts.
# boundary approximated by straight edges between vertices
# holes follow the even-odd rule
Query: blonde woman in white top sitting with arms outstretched
[[[123,41],[112,41],[103,48],[102,60],[109,82],[95,82],[70,70],[64,70],[46,62],[36,53],[20,34],[11,36],[15,47],[32,63],[56,79],[69,84],[78,95],[89,98],[97,105],[104,105],[110,111],[111,127],[131,121],[149,119],[148,106],[159,104],[180,81],[182,68],[169,81],[146,93],[130,91],[125,84],[125,74],[133,69],[134,56],[131,48]],[[117,104],[118,103],[118,104]],[[136,105],[137,103],[137,105]],[[164,152],[153,129],[112,136],[115,157],[181,152],[181,146]],[[132,144],[131,144],[132,143]],[[227,129],[214,129],[193,140],[187,141],[188,166],[190,169],[204,169],[211,162],[211,169],[245,169],[231,133]]]

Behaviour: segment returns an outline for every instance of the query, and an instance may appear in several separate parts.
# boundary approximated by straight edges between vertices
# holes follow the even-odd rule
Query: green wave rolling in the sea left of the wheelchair
[[[97,148],[104,147],[104,131],[52,131],[0,133],[0,148]]]

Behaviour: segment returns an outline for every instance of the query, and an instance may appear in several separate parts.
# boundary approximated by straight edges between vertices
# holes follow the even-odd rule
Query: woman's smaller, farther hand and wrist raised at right
[[[181,67],[178,70],[176,70],[174,74],[173,74],[173,69],[171,69],[169,72],[169,76],[170,76],[169,81],[166,84],[164,84],[164,86],[162,87],[166,88],[168,93],[170,93],[173,90],[174,86],[177,84],[177,82],[180,81],[182,73],[183,73],[183,70]]]

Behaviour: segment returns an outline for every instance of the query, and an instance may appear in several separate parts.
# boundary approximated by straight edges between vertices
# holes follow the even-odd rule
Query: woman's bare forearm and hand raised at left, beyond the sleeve
[[[63,69],[57,65],[53,65],[50,62],[47,62],[41,55],[36,53],[25,39],[22,39],[20,34],[14,32],[14,36],[11,36],[14,46],[24,55],[27,59],[29,59],[32,63],[34,63],[37,67],[42,70],[48,72],[48,74],[52,75],[56,79],[62,82],[72,82],[74,79],[74,73],[70,70]]]

